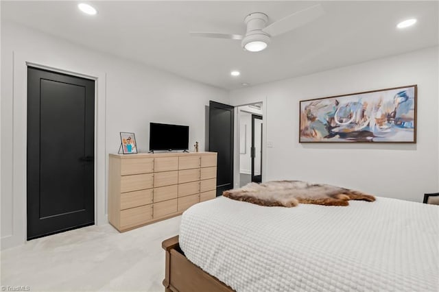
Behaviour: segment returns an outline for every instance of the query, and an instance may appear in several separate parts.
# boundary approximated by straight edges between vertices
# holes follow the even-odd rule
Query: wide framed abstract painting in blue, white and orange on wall
[[[416,143],[417,86],[300,101],[299,143]]]

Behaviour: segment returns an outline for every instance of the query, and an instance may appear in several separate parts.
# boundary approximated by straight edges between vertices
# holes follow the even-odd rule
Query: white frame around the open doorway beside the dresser
[[[241,178],[239,177],[240,165],[239,165],[239,140],[241,138],[241,133],[239,129],[239,107],[241,106],[249,106],[251,104],[262,104],[262,182],[266,182],[267,178],[267,97],[259,97],[254,100],[248,100],[248,102],[243,104],[236,104],[230,102],[230,105],[235,106],[235,160],[233,163],[233,184],[234,188],[239,188],[241,184]]]

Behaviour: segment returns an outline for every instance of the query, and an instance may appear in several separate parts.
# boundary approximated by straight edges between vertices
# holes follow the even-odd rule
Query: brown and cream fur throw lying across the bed
[[[350,199],[375,201],[374,196],[359,191],[329,184],[311,184],[300,180],[278,180],[262,184],[250,182],[242,188],[224,191],[222,195],[261,206],[283,207],[294,207],[299,203],[348,206]]]

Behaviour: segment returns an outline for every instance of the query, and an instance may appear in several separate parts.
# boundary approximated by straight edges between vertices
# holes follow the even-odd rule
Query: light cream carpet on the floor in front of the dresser
[[[1,286],[30,291],[164,291],[163,240],[181,217],[119,233],[110,225],[46,236],[1,252]]]

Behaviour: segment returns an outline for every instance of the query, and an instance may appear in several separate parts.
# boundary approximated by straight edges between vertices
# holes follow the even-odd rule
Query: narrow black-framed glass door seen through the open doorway
[[[252,114],[252,182],[262,182],[262,117]]]

